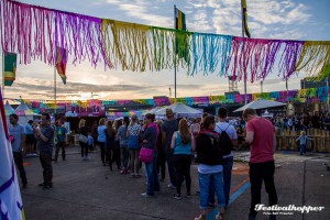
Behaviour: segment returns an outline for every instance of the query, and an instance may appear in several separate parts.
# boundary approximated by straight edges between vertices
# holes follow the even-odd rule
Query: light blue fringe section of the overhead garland
[[[193,63],[189,74],[196,75],[199,70],[204,75],[215,73],[226,75],[227,63],[230,58],[232,36],[194,33],[191,41]]]

